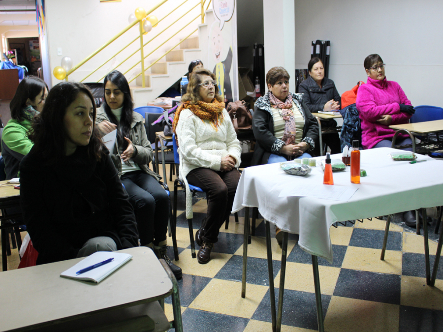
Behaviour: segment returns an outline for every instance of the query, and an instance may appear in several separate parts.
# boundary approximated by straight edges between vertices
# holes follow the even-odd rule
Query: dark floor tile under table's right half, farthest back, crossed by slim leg
[[[349,245],[354,247],[381,249],[383,247],[384,231],[375,229],[355,228],[352,232]],[[389,232],[387,250],[402,250],[402,233]]]

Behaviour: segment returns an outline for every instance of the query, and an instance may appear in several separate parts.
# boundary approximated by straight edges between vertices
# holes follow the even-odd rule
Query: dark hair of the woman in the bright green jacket
[[[25,77],[22,82],[20,82],[14,97],[9,103],[11,118],[17,121],[23,121],[25,118],[23,117],[22,109],[26,107],[28,98],[33,101],[41,91],[43,91],[44,95],[45,88],[49,91],[45,81],[39,79],[38,77]]]

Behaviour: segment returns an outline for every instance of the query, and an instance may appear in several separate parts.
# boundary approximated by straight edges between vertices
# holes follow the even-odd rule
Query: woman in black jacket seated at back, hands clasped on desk
[[[335,88],[334,81],[324,77],[323,62],[318,58],[312,58],[308,63],[308,72],[310,77],[300,84],[298,91],[303,93],[303,100],[311,113],[339,110],[342,98]],[[334,119],[321,120],[321,127],[337,127],[337,122]],[[338,133],[323,135],[323,143],[331,149],[331,153],[341,152]],[[319,146],[316,148],[316,155],[319,155],[322,148]]]

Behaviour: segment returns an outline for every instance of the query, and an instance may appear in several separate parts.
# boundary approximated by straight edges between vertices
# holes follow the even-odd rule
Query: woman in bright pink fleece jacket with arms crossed
[[[365,149],[390,148],[395,130],[389,125],[408,123],[415,111],[400,85],[386,80],[385,64],[378,54],[367,56],[364,66],[368,81],[358,89],[356,101],[362,145]],[[396,143],[412,144],[406,134],[398,135]]]

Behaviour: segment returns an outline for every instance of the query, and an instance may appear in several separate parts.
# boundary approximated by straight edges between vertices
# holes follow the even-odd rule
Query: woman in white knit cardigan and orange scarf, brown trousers
[[[186,217],[192,218],[189,183],[206,192],[208,202],[206,217],[195,234],[200,264],[211,259],[240,180],[240,143],[215,80],[208,69],[194,71],[173,122],[180,153],[179,174],[186,185]]]

